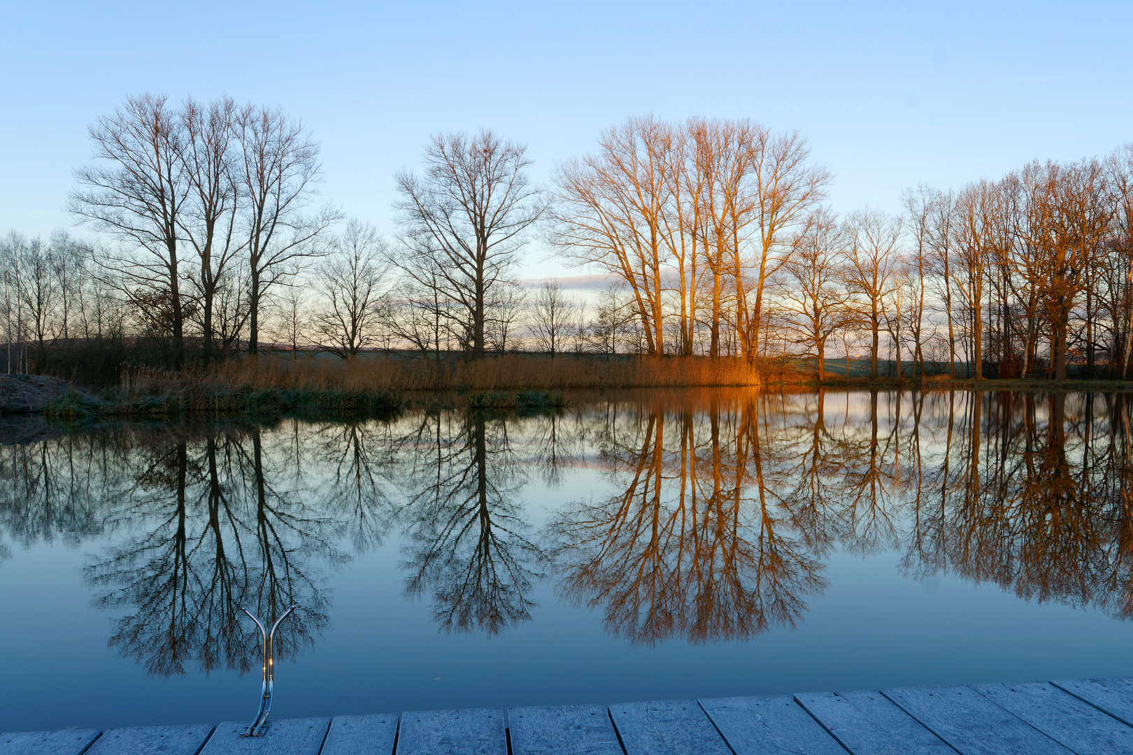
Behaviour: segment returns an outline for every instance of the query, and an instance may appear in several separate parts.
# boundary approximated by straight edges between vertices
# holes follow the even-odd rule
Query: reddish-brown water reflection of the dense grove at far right
[[[939,475],[940,537],[910,550],[906,568],[948,568],[1020,598],[1133,616],[1130,397],[964,400],[966,437],[949,434],[945,451],[960,471]]]

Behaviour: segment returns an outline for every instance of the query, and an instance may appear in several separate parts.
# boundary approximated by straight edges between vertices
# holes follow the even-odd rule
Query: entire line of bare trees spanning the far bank
[[[347,359],[785,355],[825,377],[838,344],[867,348],[875,378],[886,349],[921,377],[1133,369],[1133,147],[840,217],[806,139],[748,120],[630,118],[547,188],[522,145],[436,135],[423,170],[395,175],[387,241],[357,218],[335,230],[318,144],[279,111],[143,95],[90,136],[69,209],[100,241],[0,246],[9,369],[107,334],[165,338],[174,366],[187,336],[208,362],[266,335]],[[608,286],[533,294],[519,266],[536,235]]]

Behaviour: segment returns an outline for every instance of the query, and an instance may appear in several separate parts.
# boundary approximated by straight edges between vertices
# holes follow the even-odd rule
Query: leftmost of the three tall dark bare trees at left
[[[184,125],[163,95],[126,100],[88,129],[94,165],[75,171],[80,188],[69,211],[122,244],[102,264],[128,288],[155,289],[168,300],[173,360],[185,359],[185,311],[178,242],[189,190],[181,154]]]

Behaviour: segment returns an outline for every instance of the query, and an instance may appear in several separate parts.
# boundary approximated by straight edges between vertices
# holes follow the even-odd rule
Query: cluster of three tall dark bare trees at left
[[[196,309],[206,361],[218,337],[245,327],[255,353],[264,299],[321,254],[340,218],[313,207],[318,144],[276,110],[148,94],[100,118],[90,137],[94,161],[75,172],[68,209],[114,242],[94,258],[100,280],[140,321],[161,323],[177,366]],[[225,304],[235,310],[218,321]]]

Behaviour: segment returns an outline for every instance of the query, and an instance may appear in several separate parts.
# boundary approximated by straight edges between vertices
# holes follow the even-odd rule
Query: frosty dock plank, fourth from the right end
[[[955,752],[879,692],[807,693],[794,698],[853,755]]]

